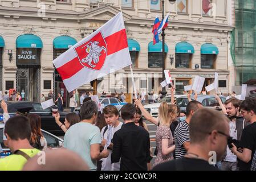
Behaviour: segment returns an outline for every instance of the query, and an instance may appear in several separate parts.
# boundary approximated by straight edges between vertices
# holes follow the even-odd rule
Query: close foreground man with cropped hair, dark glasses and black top
[[[198,109],[190,120],[190,146],[186,155],[154,167],[157,171],[217,171],[213,166],[226,151],[229,123],[213,109]]]

